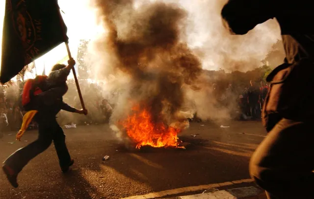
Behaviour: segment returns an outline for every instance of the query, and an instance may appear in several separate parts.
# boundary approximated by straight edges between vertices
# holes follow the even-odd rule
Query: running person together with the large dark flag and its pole
[[[5,84],[18,75],[25,66],[43,56],[59,44],[65,43],[70,60],[68,66],[55,65],[49,77],[41,76],[37,90],[30,90],[30,102],[23,118],[22,128],[17,139],[34,119],[39,125],[38,139],[10,155],[3,163],[3,171],[14,187],[18,187],[17,176],[23,167],[36,155],[54,143],[62,172],[67,172],[74,163],[65,144],[65,135],[58,125],[55,115],[65,111],[87,114],[74,70],[75,61],[71,58],[67,27],[62,19],[57,0],[6,0],[2,34],[2,54],[0,83]],[[78,95],[83,110],[65,104],[62,96],[67,91],[66,79],[73,69]],[[39,76],[35,80],[40,79]],[[31,84],[32,85],[32,84]],[[36,91],[36,93],[35,93]],[[38,93],[41,91],[41,93]],[[26,92],[27,93],[27,92]],[[26,101],[27,101],[26,100]]]

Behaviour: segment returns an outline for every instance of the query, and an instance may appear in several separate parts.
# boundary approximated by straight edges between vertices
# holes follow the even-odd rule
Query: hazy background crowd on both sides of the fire
[[[60,125],[107,123],[114,105],[106,99],[108,97],[107,93],[103,93],[104,84],[102,82],[96,84],[80,80],[79,85],[89,114],[85,116],[60,111],[57,115]],[[23,86],[22,81],[14,82],[10,86],[0,86],[0,132],[18,131],[21,127],[25,113],[21,102]],[[269,89],[268,85],[263,82],[250,81],[244,87],[243,85],[239,87],[238,85],[229,84],[226,88],[226,86],[221,87],[219,83],[212,83],[211,87],[213,88],[211,97],[217,99],[219,106],[228,107],[231,115],[234,116],[233,118],[241,120],[261,119],[262,104]],[[63,101],[72,107],[81,108],[76,84],[73,80],[68,81],[68,88]],[[29,125],[29,129],[36,128],[35,122]]]

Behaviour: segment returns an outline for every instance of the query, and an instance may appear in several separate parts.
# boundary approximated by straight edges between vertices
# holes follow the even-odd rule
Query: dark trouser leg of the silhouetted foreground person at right
[[[268,199],[314,199],[313,122],[282,119],[250,161],[250,174]]]

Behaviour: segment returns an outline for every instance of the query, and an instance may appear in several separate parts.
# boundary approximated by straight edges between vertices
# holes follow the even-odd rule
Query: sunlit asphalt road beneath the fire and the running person
[[[265,136],[261,122],[191,123],[180,134],[181,140],[189,143],[185,150],[130,151],[107,125],[78,126],[65,133],[76,160],[73,170],[61,173],[52,145],[21,172],[18,189],[0,172],[0,199],[119,199],[249,178],[250,155]],[[36,132],[26,132],[22,142],[9,144],[15,142],[15,136],[5,134],[0,140],[0,160],[36,136]],[[105,155],[110,158],[103,161]]]

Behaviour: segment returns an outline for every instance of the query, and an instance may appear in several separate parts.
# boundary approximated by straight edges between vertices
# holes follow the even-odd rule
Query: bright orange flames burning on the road
[[[136,149],[142,146],[180,147],[178,133],[180,129],[167,127],[163,122],[153,122],[150,109],[140,109],[140,106],[132,108],[132,114],[121,122],[129,137],[137,143]]]

